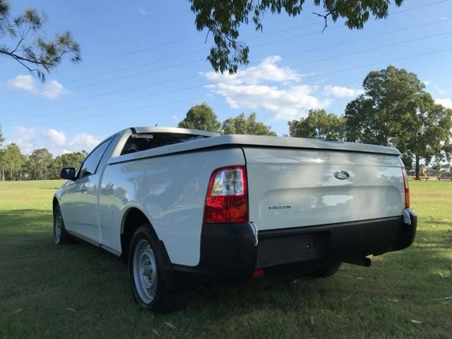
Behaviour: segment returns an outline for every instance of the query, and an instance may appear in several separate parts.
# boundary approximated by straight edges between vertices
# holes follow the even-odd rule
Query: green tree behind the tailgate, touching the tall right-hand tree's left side
[[[343,140],[345,118],[328,114],[325,109],[310,109],[306,118],[289,121],[289,134],[299,138]]]

